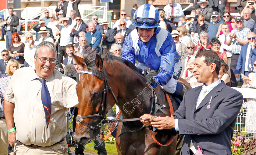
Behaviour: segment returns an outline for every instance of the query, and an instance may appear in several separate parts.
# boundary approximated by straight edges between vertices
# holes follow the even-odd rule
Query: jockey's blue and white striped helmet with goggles
[[[133,26],[137,28],[152,29],[158,27],[159,23],[160,14],[153,5],[141,5],[134,13]]]

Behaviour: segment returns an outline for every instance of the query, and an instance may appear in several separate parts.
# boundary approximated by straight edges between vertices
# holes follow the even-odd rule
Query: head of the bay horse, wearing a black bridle
[[[106,72],[101,57],[91,51],[84,55],[84,59],[75,55],[73,55],[73,59],[78,65],[84,67],[80,81],[76,85],[79,110],[74,139],[79,143],[87,143],[99,138],[100,128],[97,125],[105,118],[106,112],[112,106],[107,107],[106,105],[107,100],[109,104],[109,99],[104,93],[106,92],[104,84]],[[114,105],[115,101],[112,104]]]

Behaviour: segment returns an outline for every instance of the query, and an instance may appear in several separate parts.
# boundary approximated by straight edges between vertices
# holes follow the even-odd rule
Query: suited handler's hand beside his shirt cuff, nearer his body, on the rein
[[[150,123],[153,127],[158,130],[172,129],[175,128],[175,119],[169,116],[154,118],[153,122]]]

